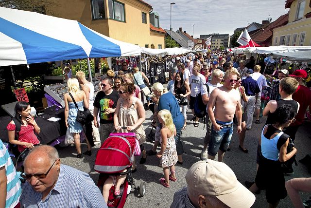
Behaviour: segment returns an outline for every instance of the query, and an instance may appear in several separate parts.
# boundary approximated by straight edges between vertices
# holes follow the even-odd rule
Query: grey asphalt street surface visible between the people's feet
[[[191,112],[188,112],[188,118],[191,118]],[[146,134],[151,131],[151,111],[146,111],[146,121],[144,122],[144,128]],[[260,118],[263,123],[265,118]],[[254,119],[255,121],[255,119]],[[254,181],[256,176],[256,149],[258,138],[263,127],[262,124],[255,124],[253,121],[252,129],[246,132],[245,147],[249,150],[248,153],[244,153],[239,150],[239,139],[236,132],[233,133],[231,140],[231,150],[227,151],[224,156],[224,162],[227,164],[236,174],[238,180],[244,184],[245,180]],[[163,177],[163,169],[159,168],[159,160],[153,156],[148,156],[145,164],[139,164],[139,157],[137,157],[137,172],[133,174],[135,182],[139,185],[141,182],[146,183],[146,193],[143,197],[138,197],[135,191],[132,191],[126,200],[126,208],[168,208],[173,201],[173,195],[176,191],[187,186],[185,175],[190,166],[200,160],[200,153],[203,148],[203,137],[206,133],[206,128],[203,129],[203,123],[200,121],[199,127],[194,127],[192,122],[187,122],[187,128],[183,131],[182,141],[185,149],[183,155],[183,165],[176,166],[176,182],[170,182],[171,187],[165,188],[159,183],[159,179]],[[234,128],[236,131],[236,127]],[[155,130],[154,130],[155,132]],[[295,146],[297,148],[297,162],[302,159],[306,154],[311,153],[311,123],[305,123],[299,128]],[[151,149],[153,143],[144,143],[147,150]],[[62,164],[72,166],[78,170],[87,172],[95,183],[98,181],[99,173],[93,170],[95,156],[100,145],[93,148],[92,156],[85,156],[83,159],[79,159],[75,156],[75,147],[69,146],[59,149],[59,154]],[[159,150],[159,148],[158,148]],[[86,144],[82,144],[82,151],[86,151]],[[217,158],[217,156],[216,156]],[[295,177],[310,177],[307,168],[298,162],[298,166],[294,166],[294,175],[285,176],[285,180],[289,180]],[[265,191],[261,191],[256,195],[256,201],[253,205],[254,208],[267,207],[265,199]],[[302,193],[302,199],[308,199],[309,193]],[[287,196],[280,201],[280,208],[293,207],[290,198]]]

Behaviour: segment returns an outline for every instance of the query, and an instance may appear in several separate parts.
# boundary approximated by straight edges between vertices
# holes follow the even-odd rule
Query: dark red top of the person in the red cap
[[[305,113],[307,107],[311,107],[311,91],[304,85],[299,85],[296,92],[293,94],[293,100],[299,103],[299,110],[295,117],[296,121],[291,126],[297,126],[303,123],[305,120]],[[310,108],[311,112],[311,108]]]

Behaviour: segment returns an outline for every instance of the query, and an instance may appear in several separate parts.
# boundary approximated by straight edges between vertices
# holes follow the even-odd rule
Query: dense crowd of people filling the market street
[[[107,77],[100,83],[101,91],[95,98],[94,86],[86,80],[85,74],[79,71],[76,78],[69,77],[65,68],[68,79],[68,93],[64,95],[65,123],[74,137],[77,157],[91,155],[92,147],[103,144],[111,132],[135,132],[141,150],[139,163],[144,164],[148,155],[156,155],[160,159],[158,166],[164,173],[159,183],[169,188],[170,181],[177,180],[175,164],[183,164],[182,131],[187,128],[187,120],[197,128],[199,120],[203,119],[207,132],[205,136],[198,135],[204,137],[202,161],[188,170],[188,186],[175,193],[172,208],[251,207],[255,201],[253,193],[262,189],[266,190],[269,207],[277,207],[279,200],[286,197],[286,189],[294,206],[301,207],[302,202],[295,189],[311,192],[311,186],[306,185],[311,183],[310,178],[285,183],[284,174],[294,174],[295,134],[311,105],[311,91],[304,84],[306,71],[296,70],[291,75],[286,69],[277,72],[280,81],[272,87],[271,100],[263,110],[267,121],[258,144],[257,175],[254,182],[245,182],[246,189],[223,163],[223,158],[230,149],[234,123],[239,134],[239,149],[248,153],[244,146],[245,132],[253,128],[254,117],[255,125],[262,122],[259,118],[260,98],[261,92],[268,87],[266,77],[260,73],[261,67],[256,65],[254,57],[246,59],[219,51],[186,57],[175,57],[169,69],[172,80],[167,87],[154,83],[149,95],[142,93],[142,89],[150,85],[148,77],[138,67],[132,73],[126,61],[118,75],[112,70],[107,72]],[[142,125],[146,119],[144,97],[154,113],[155,143],[150,150],[143,145],[146,141]],[[197,113],[202,107],[203,113]],[[76,116],[78,110],[83,111],[84,108],[90,110],[93,121],[82,125]],[[190,118],[187,116],[189,109],[192,113]],[[114,184],[114,195],[120,194],[124,176],[107,179],[101,193],[86,173],[62,165],[55,148],[39,145],[35,132],[40,132],[40,128],[30,115],[28,103],[17,102],[15,111],[15,118],[7,126],[10,143],[17,145],[19,152],[25,148],[33,150],[23,157],[24,173],[21,176],[26,183],[21,191],[19,185],[12,186],[18,184],[13,180],[17,174],[0,144],[0,176],[6,175],[8,180],[5,183],[11,181],[3,191],[3,180],[0,179],[0,197],[6,198],[4,204],[0,200],[0,207],[106,207],[107,194]],[[87,143],[83,154],[81,133]],[[160,151],[157,151],[159,144]],[[218,161],[214,161],[216,155]],[[134,159],[131,172],[136,171]],[[4,197],[2,193],[6,190],[10,194]],[[61,200],[65,197],[77,200]]]

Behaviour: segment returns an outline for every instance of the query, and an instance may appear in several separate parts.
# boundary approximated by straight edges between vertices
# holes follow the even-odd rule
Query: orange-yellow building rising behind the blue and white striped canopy
[[[53,0],[54,17],[74,19],[105,36],[141,47],[165,46],[165,31],[151,29],[152,6],[142,0]],[[66,25],[64,31],[66,32]]]

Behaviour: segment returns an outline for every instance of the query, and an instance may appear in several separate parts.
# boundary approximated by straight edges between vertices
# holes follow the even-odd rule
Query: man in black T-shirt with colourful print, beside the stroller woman
[[[114,132],[113,114],[116,111],[119,94],[113,90],[113,80],[106,77],[101,83],[102,91],[98,92],[94,100],[94,125],[99,128],[101,142]],[[97,115],[100,113],[100,124],[97,122]]]

